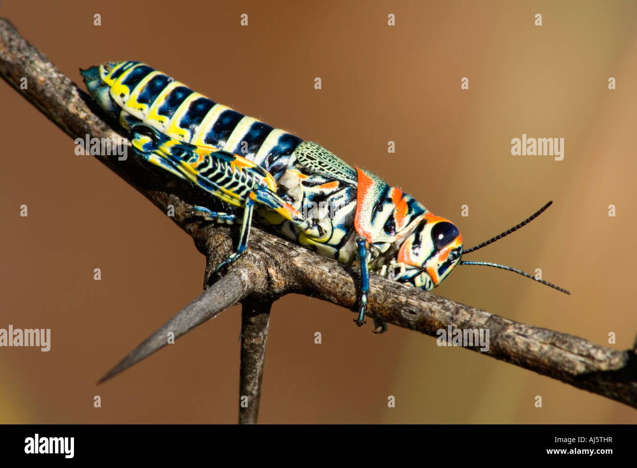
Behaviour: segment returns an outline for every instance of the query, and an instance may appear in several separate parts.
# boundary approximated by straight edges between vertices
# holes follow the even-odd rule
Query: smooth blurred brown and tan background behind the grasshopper
[[[633,1],[5,0],[0,15],[77,83],[78,67],[141,60],[317,141],[454,220],[466,246],[553,200],[531,225],[467,259],[539,267],[573,295],[486,267],[457,268],[436,294],[617,349],[633,344]],[[0,422],[236,422],[238,307],[96,386],[201,292],[204,258],[124,181],[76,156],[73,141],[6,83],[0,106],[0,327],[52,329],[48,353],[0,348]],[[512,156],[510,140],[522,133],[564,138],[564,160]],[[617,402],[396,327],[373,336],[353,316],[308,297],[276,302],[259,422],[637,422]],[[607,343],[611,331],[617,344]]]

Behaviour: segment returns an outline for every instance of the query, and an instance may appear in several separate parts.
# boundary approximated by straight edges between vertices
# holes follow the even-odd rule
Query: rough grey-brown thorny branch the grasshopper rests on
[[[72,138],[118,134],[103,120],[82,90],[32,47],[6,20],[0,19],[0,75]],[[20,78],[28,89],[20,89]],[[89,104],[87,104],[89,103]],[[117,127],[115,127],[117,128]],[[132,152],[131,152],[132,153]],[[312,295],[343,308],[357,308],[359,273],[355,267],[320,257],[289,241],[253,229],[247,252],[218,280],[215,267],[232,251],[229,228],[189,216],[201,200],[198,189],[161,171],[149,171],[134,158],[98,157],[118,176],[172,218],[206,256],[206,290],[132,351],[102,380],[135,364],[166,344],[166,333],[181,336],[236,302],[243,302],[241,392],[256,406],[240,410],[241,422],[255,422],[264,362],[269,305],[289,293]],[[577,388],[637,408],[637,355],[617,351],[580,337],[513,322],[444,297],[372,275],[369,312],[385,322],[436,336],[436,330],[490,329],[484,355],[558,379]],[[469,348],[474,351],[478,346]]]

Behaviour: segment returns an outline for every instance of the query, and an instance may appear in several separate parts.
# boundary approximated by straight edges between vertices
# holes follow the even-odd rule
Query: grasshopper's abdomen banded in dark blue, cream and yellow
[[[89,93],[129,129],[143,122],[171,138],[239,154],[275,179],[301,139],[217,104],[140,62],[107,63],[82,71]]]

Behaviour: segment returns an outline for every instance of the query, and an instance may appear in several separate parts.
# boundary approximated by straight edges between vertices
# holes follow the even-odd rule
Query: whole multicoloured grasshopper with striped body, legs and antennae
[[[461,257],[519,229],[550,202],[512,229],[463,251],[453,223],[399,188],[348,166],[316,143],[213,103],[145,64],[106,63],[82,76],[99,106],[130,131],[136,153],[243,209],[241,216],[234,208],[229,213],[194,208],[206,220],[233,223],[241,217],[238,248],[218,271],[247,248],[256,207],[259,222],[280,235],[339,262],[359,261],[357,325],[364,323],[370,269],[425,290],[439,285],[458,264],[494,266],[536,280],[511,267]],[[375,332],[384,330],[385,324],[375,321]]]

